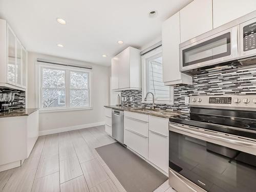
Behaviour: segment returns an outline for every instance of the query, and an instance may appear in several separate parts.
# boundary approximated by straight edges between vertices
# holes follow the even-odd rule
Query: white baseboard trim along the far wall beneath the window
[[[100,126],[104,125],[105,122],[97,122],[97,123],[89,123],[89,124],[81,124],[81,125],[75,125],[75,126],[67,126],[67,127],[60,127],[58,129],[51,129],[51,130],[45,130],[45,131],[39,131],[39,136],[42,135],[50,135],[54,133],[61,133],[61,132],[67,132],[67,131],[73,131],[73,130],[80,130],[84,128],[89,128],[93,126]]]

